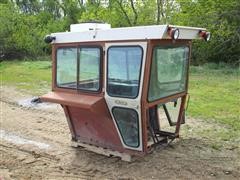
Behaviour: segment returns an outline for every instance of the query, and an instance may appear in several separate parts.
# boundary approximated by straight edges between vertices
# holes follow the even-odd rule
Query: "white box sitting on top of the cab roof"
[[[71,24],[71,32],[84,32],[84,31],[93,31],[93,30],[105,30],[111,29],[110,24],[106,23],[81,23],[81,24]]]

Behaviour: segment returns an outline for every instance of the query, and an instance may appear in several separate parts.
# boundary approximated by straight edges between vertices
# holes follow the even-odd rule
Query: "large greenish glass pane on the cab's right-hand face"
[[[154,48],[149,101],[185,91],[188,54],[186,46]]]

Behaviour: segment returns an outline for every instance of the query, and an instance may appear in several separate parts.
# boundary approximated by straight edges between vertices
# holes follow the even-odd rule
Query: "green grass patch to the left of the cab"
[[[51,89],[51,61],[3,61],[0,74],[2,85],[34,95]]]

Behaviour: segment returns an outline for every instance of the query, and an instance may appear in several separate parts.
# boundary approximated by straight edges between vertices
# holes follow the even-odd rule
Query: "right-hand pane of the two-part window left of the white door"
[[[98,91],[100,88],[100,49],[81,48],[79,63],[79,84],[82,90]]]

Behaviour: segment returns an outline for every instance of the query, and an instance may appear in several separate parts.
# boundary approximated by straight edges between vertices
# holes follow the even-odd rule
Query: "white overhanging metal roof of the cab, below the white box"
[[[199,31],[206,31],[205,28],[174,25],[152,25],[124,28],[104,28],[81,32],[60,32],[52,33],[51,36],[56,37],[52,43],[171,39],[167,33],[168,28],[178,28],[180,32],[178,39],[188,40],[201,39]]]

